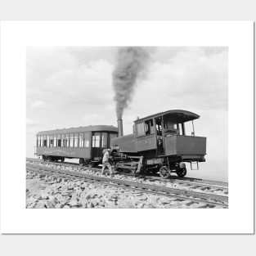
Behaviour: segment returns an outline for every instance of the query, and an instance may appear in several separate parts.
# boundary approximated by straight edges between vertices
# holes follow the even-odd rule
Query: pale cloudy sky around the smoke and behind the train
[[[165,110],[200,115],[195,135],[207,137],[206,162],[188,175],[227,181],[227,47],[149,47],[146,75],[124,110],[124,134],[140,118]],[[26,154],[39,131],[116,125],[112,71],[118,47],[27,47]],[[186,132],[191,131],[187,124]]]

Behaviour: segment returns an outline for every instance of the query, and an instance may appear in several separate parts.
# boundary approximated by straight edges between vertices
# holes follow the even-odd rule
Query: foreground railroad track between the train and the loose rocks
[[[34,159],[33,159],[34,160]],[[133,182],[125,179],[113,178],[113,177],[103,177],[101,175],[97,175],[98,173],[88,174],[88,173],[80,173],[70,170],[65,170],[61,167],[67,167],[65,164],[57,163],[60,168],[57,167],[47,167],[46,164],[42,164],[41,160],[34,161],[39,164],[29,164],[26,166],[28,170],[38,169],[44,170],[47,172],[51,172],[53,175],[68,175],[69,177],[79,178],[79,179],[88,179],[97,182],[107,182],[110,184],[116,184],[118,186],[126,186],[132,189],[139,189],[142,191],[150,191],[154,193],[163,193],[164,195],[172,195],[172,196],[182,196],[183,199],[192,199],[197,201],[206,201],[208,204],[222,205],[223,207],[227,207],[228,197],[227,195],[214,195],[212,193],[206,192],[198,192],[198,191],[188,191],[183,189],[177,189],[168,186],[156,186],[152,184],[147,184],[143,182]],[[52,164],[52,163],[51,163]],[[55,163],[53,163],[55,164]],[[74,166],[69,165],[68,167],[74,168]]]

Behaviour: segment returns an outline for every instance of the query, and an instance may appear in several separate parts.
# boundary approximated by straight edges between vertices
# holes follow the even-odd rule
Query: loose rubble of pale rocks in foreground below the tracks
[[[27,173],[26,208],[200,208],[191,200],[150,195],[110,184],[81,181],[56,181]]]

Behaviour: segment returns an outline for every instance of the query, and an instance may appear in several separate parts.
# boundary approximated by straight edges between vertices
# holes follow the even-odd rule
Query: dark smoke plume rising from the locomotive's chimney
[[[150,53],[146,47],[120,47],[113,71],[116,115],[122,119],[124,109],[132,100],[133,88],[137,80],[146,74]]]

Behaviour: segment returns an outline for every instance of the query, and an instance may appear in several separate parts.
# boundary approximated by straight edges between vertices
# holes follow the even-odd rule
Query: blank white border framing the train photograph
[[[115,45],[229,47],[229,209],[25,209],[25,47]],[[253,22],[5,21],[1,86],[2,233],[254,232]]]

